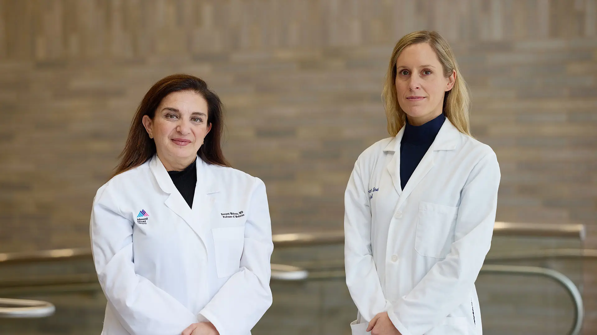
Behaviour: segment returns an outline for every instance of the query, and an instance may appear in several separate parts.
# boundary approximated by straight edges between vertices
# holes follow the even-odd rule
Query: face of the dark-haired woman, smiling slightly
[[[143,125],[153,137],[158,157],[167,170],[183,170],[195,160],[205,135],[207,101],[192,91],[168,94],[159,104],[153,119],[143,116]]]

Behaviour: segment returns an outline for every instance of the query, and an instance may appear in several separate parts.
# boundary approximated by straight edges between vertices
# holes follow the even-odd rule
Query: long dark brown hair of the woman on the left
[[[220,97],[216,92],[211,91],[204,80],[191,75],[177,74],[167,76],[153,84],[141,100],[128,131],[127,144],[118,156],[120,163],[116,166],[114,175],[134,169],[155,155],[155,142],[149,138],[143,126],[143,116],[147,115],[153,120],[155,110],[162,99],[177,91],[192,91],[207,101],[207,122],[211,123],[211,131],[205,135],[203,145],[197,151],[198,156],[208,164],[230,166],[220,146],[224,127]]]

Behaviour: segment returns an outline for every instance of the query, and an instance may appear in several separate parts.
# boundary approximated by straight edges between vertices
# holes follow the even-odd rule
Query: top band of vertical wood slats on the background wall
[[[564,0],[290,0],[284,6],[239,0],[53,0],[42,5],[2,0],[2,4],[2,39],[10,52],[0,57],[37,60],[107,54],[131,58],[152,50],[168,54],[275,49],[290,42],[293,47],[368,45],[392,42],[416,29],[440,29],[453,42],[584,38],[595,36],[597,11],[595,0],[573,5]],[[327,17],[322,18],[324,8]],[[374,12],[395,15],[373,18]],[[285,16],[293,19],[280,19]],[[235,36],[241,36],[240,44],[233,42]]]

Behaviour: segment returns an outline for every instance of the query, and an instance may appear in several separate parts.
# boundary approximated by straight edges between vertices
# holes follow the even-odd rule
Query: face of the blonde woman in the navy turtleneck
[[[396,94],[408,122],[419,126],[442,113],[444,94],[456,80],[456,71],[444,77],[435,51],[427,43],[402,49],[396,60]]]

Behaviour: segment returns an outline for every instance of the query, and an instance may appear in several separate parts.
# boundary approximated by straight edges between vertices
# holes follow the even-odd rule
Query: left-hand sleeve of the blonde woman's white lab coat
[[[344,193],[344,265],[346,285],[362,317],[370,321],[376,314],[387,311],[390,303],[381,290],[371,253],[371,208],[359,161]]]

